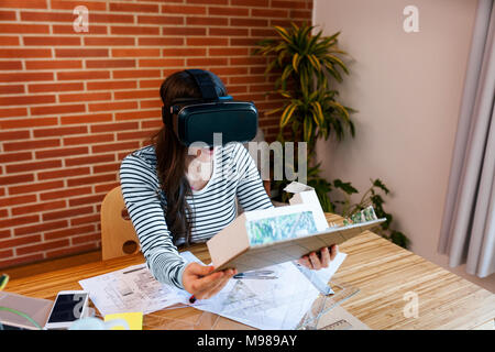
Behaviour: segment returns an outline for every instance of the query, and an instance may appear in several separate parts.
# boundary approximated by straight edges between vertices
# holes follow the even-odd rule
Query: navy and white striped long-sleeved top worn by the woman
[[[173,243],[165,221],[167,201],[160,186],[153,145],[124,157],[120,182],[151,273],[161,283],[184,288],[182,278],[187,263],[176,248],[183,243]],[[248,150],[240,143],[229,143],[215,148],[213,170],[208,184],[186,196],[194,212],[191,243],[207,241],[232,222],[237,217],[235,199],[244,210],[273,207]]]

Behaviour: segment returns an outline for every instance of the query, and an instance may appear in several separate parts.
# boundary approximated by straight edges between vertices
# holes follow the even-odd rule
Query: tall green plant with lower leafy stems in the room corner
[[[323,36],[322,31],[311,34],[315,26],[304,23],[300,28],[292,23],[290,29],[274,26],[277,38],[266,38],[257,43],[253,54],[268,57],[265,75],[278,73],[274,91],[284,98],[280,108],[266,114],[280,113],[277,141],[288,139],[293,142],[307,143],[308,186],[315,188],[321,207],[326,212],[337,212],[350,217],[373,205],[376,216],[386,218],[382,224],[381,235],[394,243],[407,248],[408,239],[402,232],[391,229],[392,215],[385,212],[381,193],[388,195],[387,187],[380,180],[372,180],[361,201],[351,205],[350,197],[359,191],[340,179],[328,182],[320,176],[320,163],[315,162],[315,148],[319,139],[328,140],[334,135],[338,141],[348,134],[355,136],[351,114],[355,112],[338,101],[339,92],[330,88],[331,79],[341,82],[349,69],[342,61],[346,55],[338,46],[340,32]],[[296,153],[297,154],[297,153]],[[285,155],[285,153],[283,154]],[[298,164],[298,163],[297,163]],[[273,189],[279,194],[278,200],[287,201],[288,195],[283,191],[289,182],[286,179],[273,182]],[[331,195],[341,191],[344,200],[332,200]]]

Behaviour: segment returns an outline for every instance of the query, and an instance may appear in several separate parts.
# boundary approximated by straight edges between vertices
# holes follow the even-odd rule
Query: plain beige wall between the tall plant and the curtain
[[[403,10],[419,9],[419,32],[406,33]],[[324,176],[359,189],[380,177],[392,190],[386,210],[411,240],[411,250],[443,267],[437,253],[475,0],[316,0],[314,23],[342,31],[351,75],[341,100],[359,110],[356,136],[318,145]],[[480,279],[495,292],[495,275]]]

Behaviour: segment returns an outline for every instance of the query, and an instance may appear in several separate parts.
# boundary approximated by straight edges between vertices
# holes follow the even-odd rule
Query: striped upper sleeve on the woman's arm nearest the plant
[[[248,211],[273,208],[256,164],[242,144],[235,145],[233,162],[239,177],[237,196],[242,208]]]

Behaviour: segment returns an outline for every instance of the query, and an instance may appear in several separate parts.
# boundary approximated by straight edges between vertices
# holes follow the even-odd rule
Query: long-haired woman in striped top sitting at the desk
[[[227,96],[222,81],[208,74],[218,96]],[[197,84],[185,72],[168,76],[160,94],[167,110],[174,99],[201,97]],[[122,161],[120,180],[150,271],[161,283],[184,288],[198,299],[217,294],[237,271],[212,274],[212,266],[186,263],[177,246],[205,242],[227,227],[237,216],[235,198],[246,211],[273,207],[255,163],[242,144],[186,147],[166,125],[152,145]],[[336,254],[337,246],[331,251],[324,248],[321,260],[311,253],[299,263],[318,270],[328,266]]]

